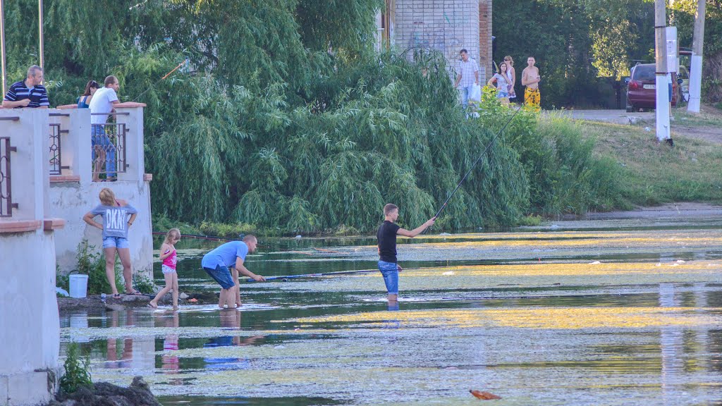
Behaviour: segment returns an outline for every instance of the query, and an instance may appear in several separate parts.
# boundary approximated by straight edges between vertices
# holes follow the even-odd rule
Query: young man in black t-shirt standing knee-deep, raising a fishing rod
[[[419,225],[414,230],[404,230],[397,225],[399,218],[399,207],[396,204],[386,204],[383,207],[383,223],[378,228],[378,270],[383,275],[383,282],[386,283],[388,302],[396,302],[399,298],[399,271],[403,270],[396,263],[396,236],[414,238],[431,227],[436,220],[432,217],[426,223]]]

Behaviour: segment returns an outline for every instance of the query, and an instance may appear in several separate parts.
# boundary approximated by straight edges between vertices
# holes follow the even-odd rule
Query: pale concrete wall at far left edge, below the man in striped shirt
[[[10,137],[12,217],[0,218],[0,405],[48,402],[55,389],[60,324],[54,228],[49,217],[48,112],[1,109]]]

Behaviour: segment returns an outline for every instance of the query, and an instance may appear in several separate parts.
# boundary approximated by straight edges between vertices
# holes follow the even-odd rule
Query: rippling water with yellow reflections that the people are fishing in
[[[142,375],[165,406],[722,405],[721,241],[708,216],[400,238],[397,306],[378,272],[243,280],[240,311],[61,313],[61,355],[80,342],[94,381]],[[178,244],[181,291],[217,290],[200,259],[218,244]],[[377,259],[375,238],[261,238],[246,265]]]

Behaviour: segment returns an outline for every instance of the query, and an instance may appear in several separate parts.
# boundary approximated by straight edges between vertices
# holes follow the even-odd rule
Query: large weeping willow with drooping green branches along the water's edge
[[[6,1],[18,72],[37,43],[26,3]],[[383,204],[394,202],[402,223],[416,225],[434,214],[509,111],[487,100],[495,113],[467,119],[443,56],[417,54],[412,63],[376,53],[381,5],[45,0],[51,103],[72,103],[88,79],[108,74],[118,76],[121,100],[142,95],[154,214],[284,231],[370,230]],[[440,226],[506,225],[560,207],[550,203],[559,200],[555,185],[588,173],[588,157],[564,173],[568,165],[547,163],[563,162],[563,143],[532,153],[536,116],[519,117]],[[539,193],[540,185],[550,190]]]

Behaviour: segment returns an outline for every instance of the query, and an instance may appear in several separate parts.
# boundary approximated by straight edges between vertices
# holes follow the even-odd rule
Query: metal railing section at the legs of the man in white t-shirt
[[[117,173],[125,173],[126,134],[125,123],[92,124],[92,170],[93,180],[105,173],[106,178],[115,178]]]

